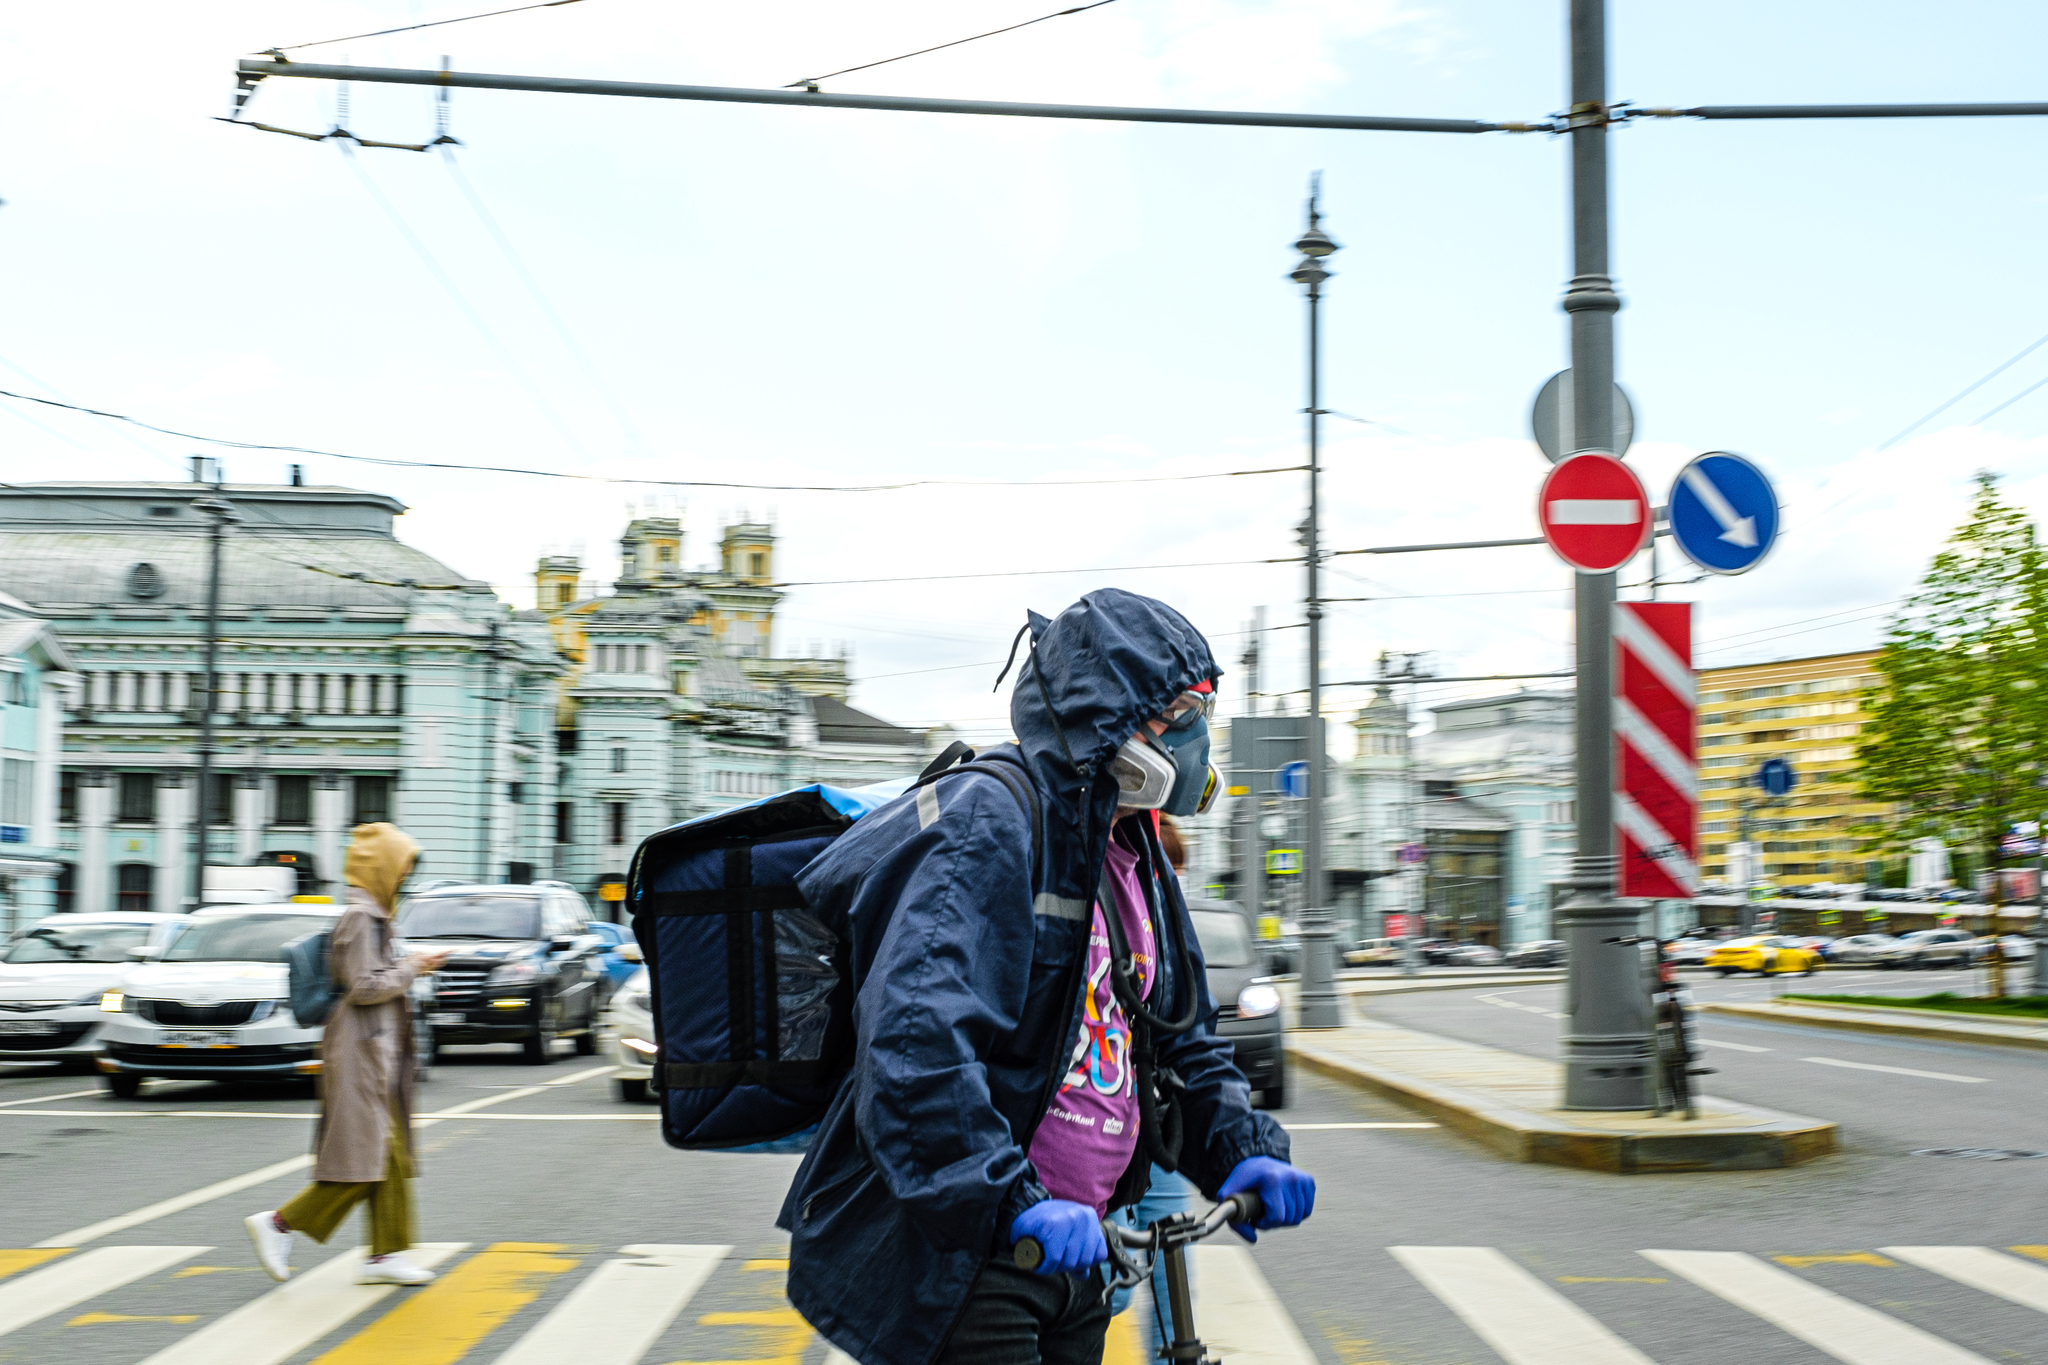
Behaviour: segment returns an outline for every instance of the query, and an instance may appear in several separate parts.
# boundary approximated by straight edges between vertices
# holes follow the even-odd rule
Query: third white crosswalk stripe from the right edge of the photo
[[[1389,1246],[1507,1365],[1655,1365],[1491,1246]]]

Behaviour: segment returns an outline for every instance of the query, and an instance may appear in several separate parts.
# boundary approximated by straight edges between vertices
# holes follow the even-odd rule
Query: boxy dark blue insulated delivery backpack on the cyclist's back
[[[952,745],[915,780],[803,786],[647,835],[627,874],[633,935],[647,960],[653,1087],[670,1146],[795,1152],[854,1060],[846,923],[813,915],[797,874],[913,788],[979,772],[1001,780],[1032,819],[1022,769],[958,763]],[[1036,866],[1036,855],[1034,855]]]

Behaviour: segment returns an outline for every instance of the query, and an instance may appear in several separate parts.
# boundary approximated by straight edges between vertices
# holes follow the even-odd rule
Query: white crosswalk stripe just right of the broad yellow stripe
[[[498,1365],[635,1365],[668,1330],[731,1246],[621,1246]],[[197,1365],[197,1363],[195,1363]]]

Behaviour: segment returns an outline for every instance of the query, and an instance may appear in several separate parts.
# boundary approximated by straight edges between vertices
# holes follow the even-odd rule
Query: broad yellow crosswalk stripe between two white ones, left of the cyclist
[[[578,1267],[555,1242],[494,1242],[313,1365],[455,1365],[547,1281]]]

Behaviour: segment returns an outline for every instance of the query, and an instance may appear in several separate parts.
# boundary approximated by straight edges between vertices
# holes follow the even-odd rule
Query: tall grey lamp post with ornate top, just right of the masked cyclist
[[[1343,1023],[1337,1011],[1337,954],[1329,894],[1323,886],[1323,798],[1329,774],[1323,765],[1323,593],[1321,593],[1321,475],[1323,475],[1323,280],[1329,270],[1323,260],[1337,244],[1323,233],[1317,201],[1323,178],[1309,184],[1309,229],[1294,241],[1300,264],[1288,274],[1309,291],[1309,520],[1303,522],[1303,559],[1309,565],[1309,829],[1303,839],[1303,923],[1300,923],[1300,1027],[1333,1029]]]

